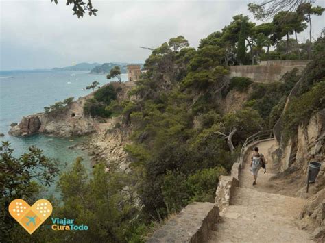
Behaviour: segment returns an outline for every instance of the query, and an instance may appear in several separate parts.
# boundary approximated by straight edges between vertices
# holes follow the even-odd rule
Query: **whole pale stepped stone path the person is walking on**
[[[264,155],[273,145],[274,140],[257,144]],[[267,173],[260,170],[257,185],[252,186],[248,156],[241,170],[239,187],[230,206],[220,213],[221,220],[210,233],[208,242],[313,242],[308,232],[296,226],[304,199],[268,193],[267,180],[274,174],[272,161],[266,159]]]

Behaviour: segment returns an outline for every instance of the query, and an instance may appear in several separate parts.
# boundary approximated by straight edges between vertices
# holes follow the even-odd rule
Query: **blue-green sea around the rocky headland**
[[[127,75],[122,74],[123,80]],[[30,146],[36,146],[51,159],[59,162],[61,170],[70,168],[77,157],[82,157],[87,171],[91,171],[87,151],[69,149],[69,146],[84,142],[86,137],[53,138],[36,134],[28,137],[13,137],[8,134],[10,124],[19,123],[23,116],[43,112],[45,106],[62,101],[67,97],[78,99],[91,90],[86,86],[93,81],[107,84],[106,75],[90,74],[89,71],[0,71],[0,142],[9,141],[15,157],[28,153]],[[110,81],[115,81],[111,79]],[[55,186],[47,188],[50,194]]]

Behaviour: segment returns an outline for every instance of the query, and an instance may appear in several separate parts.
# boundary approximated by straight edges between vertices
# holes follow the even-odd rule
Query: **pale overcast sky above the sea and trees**
[[[0,70],[53,68],[79,62],[145,62],[144,47],[179,35],[191,47],[221,30],[237,14],[252,15],[246,0],[92,0],[97,16],[73,16],[65,0],[0,0]],[[258,0],[256,0],[258,2]],[[316,1],[325,7],[325,1]],[[325,14],[313,16],[313,35]],[[308,38],[308,29],[299,34]]]

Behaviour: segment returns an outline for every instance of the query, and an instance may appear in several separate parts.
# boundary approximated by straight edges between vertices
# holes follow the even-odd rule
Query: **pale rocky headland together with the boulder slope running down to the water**
[[[121,87],[117,99],[130,99],[127,93],[134,87],[133,82],[113,83],[113,85],[115,88]],[[91,97],[93,97],[93,93],[69,103],[58,112],[43,112],[24,116],[19,124],[12,123],[8,133],[11,136],[30,136],[43,133],[46,136],[61,138],[90,135],[87,142],[70,146],[69,149],[88,151],[92,166],[98,162],[104,162],[109,170],[110,164],[117,162],[121,170],[128,172],[130,157],[124,151],[124,146],[130,143],[131,128],[122,124],[121,117],[99,120],[85,116],[84,103]]]

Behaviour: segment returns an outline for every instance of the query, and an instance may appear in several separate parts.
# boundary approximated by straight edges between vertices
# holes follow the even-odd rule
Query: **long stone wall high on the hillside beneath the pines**
[[[272,83],[280,81],[285,73],[298,68],[302,72],[306,66],[279,66],[279,65],[243,65],[230,66],[230,77],[249,77],[257,83]]]

